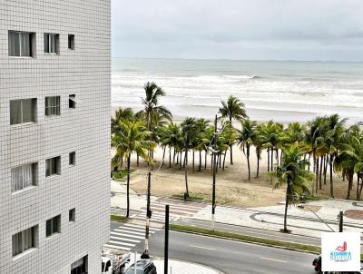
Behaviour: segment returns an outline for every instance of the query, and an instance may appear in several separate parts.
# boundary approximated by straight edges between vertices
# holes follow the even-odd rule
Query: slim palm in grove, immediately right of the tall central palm
[[[240,144],[241,149],[247,157],[247,166],[249,169],[249,181],[250,181],[250,144],[253,143],[256,135],[257,122],[250,121],[250,119],[243,120],[241,122],[241,130],[237,131],[236,140]],[[245,151],[246,148],[246,151]]]

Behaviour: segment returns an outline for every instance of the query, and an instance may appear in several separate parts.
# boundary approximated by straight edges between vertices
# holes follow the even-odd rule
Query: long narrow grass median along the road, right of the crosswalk
[[[253,237],[253,236],[247,236],[247,235],[241,235],[237,233],[231,233],[231,232],[224,232],[224,231],[218,231],[218,230],[206,230],[201,228],[196,228],[192,226],[186,226],[186,225],[179,225],[179,224],[171,224],[170,225],[171,230],[179,230],[183,232],[191,232],[191,233],[197,233],[202,235],[207,235],[211,237],[217,237],[217,238],[225,238],[225,239],[231,239],[231,240],[240,240],[240,241],[246,241],[250,243],[258,243],[266,246],[272,246],[272,247],[279,247],[289,250],[299,250],[299,251],[305,251],[310,253],[319,254],[321,249],[316,246],[306,245],[306,244],[300,244],[300,243],[294,243],[289,241],[282,241],[282,240],[271,240],[271,239],[265,239],[260,237]]]

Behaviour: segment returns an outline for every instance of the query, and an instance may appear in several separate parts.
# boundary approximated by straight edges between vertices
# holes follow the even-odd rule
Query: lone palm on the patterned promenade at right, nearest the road
[[[299,201],[299,197],[303,193],[309,193],[307,184],[314,177],[314,174],[306,170],[309,161],[303,159],[303,152],[299,148],[299,144],[283,149],[283,158],[280,164],[277,164],[274,171],[269,174],[276,178],[274,189],[286,184],[286,201],[284,214],[284,232],[288,232],[288,207],[289,204],[294,204]]]

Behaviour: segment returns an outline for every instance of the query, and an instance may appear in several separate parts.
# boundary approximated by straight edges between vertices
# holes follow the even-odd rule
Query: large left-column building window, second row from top
[[[36,122],[36,99],[10,101],[10,124]]]

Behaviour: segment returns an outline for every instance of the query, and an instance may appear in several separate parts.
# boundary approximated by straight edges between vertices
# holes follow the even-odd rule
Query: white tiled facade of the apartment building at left
[[[110,0],[0,0],[0,273],[71,273],[88,255],[100,273],[110,216]],[[34,57],[12,57],[8,31],[35,33]],[[59,34],[59,54],[44,53],[44,33]],[[74,50],[68,49],[74,34]],[[69,95],[76,106],[69,108]],[[60,115],[44,98],[61,97]],[[10,124],[10,101],[36,98],[36,122]],[[75,165],[68,155],[75,152]],[[45,160],[61,156],[61,174]],[[37,162],[37,185],[11,190],[11,169]],[[69,210],[75,208],[75,221]],[[61,232],[45,222],[61,214]],[[12,235],[37,225],[36,246],[17,256]]]

